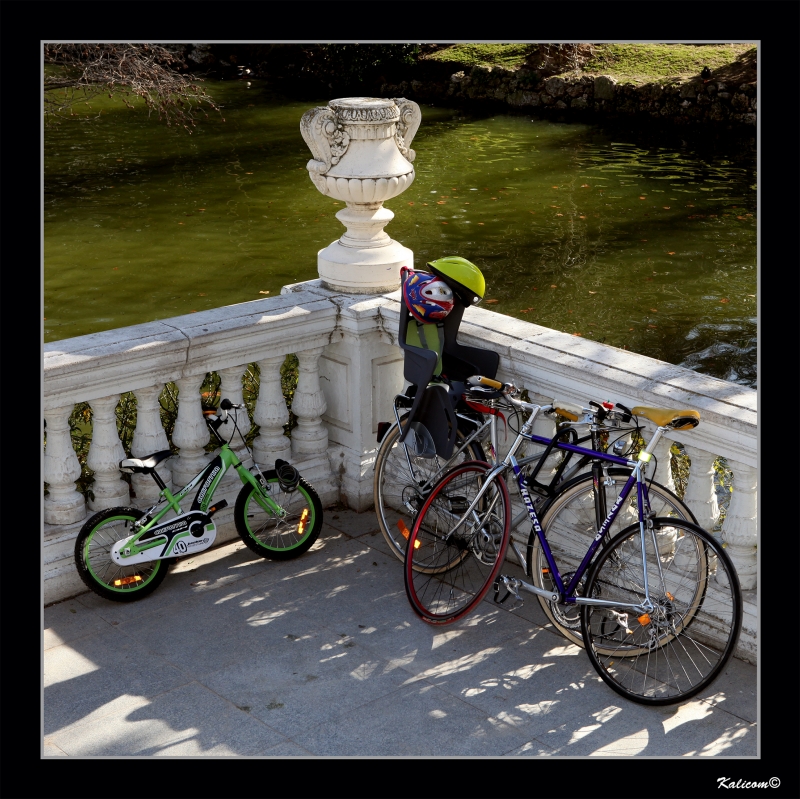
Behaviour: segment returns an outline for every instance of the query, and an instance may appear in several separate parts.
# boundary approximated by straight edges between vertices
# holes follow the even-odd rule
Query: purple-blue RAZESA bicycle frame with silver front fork
[[[592,558],[594,557],[594,554],[597,551],[597,548],[600,546],[603,538],[605,537],[611,525],[613,524],[614,519],[616,519],[620,507],[630,495],[630,492],[633,489],[633,485],[636,484],[637,499],[638,499],[639,529],[641,533],[642,564],[644,573],[643,579],[644,579],[644,590],[646,598],[644,603],[642,604],[614,602],[613,607],[629,609],[631,611],[640,614],[650,612],[653,609],[653,605],[649,598],[650,595],[647,583],[647,568],[645,561],[646,558],[645,535],[647,529],[646,520],[650,515],[650,503],[647,494],[647,485],[645,483],[643,474],[643,465],[650,459],[650,455],[647,451],[648,447],[645,447],[645,449],[642,451],[639,460],[630,461],[625,458],[617,457],[616,455],[609,455],[604,452],[587,449],[585,447],[579,447],[574,444],[567,444],[565,442],[559,442],[559,441],[554,442],[554,446],[557,449],[586,456],[596,461],[613,463],[619,466],[625,466],[627,468],[632,469],[631,475],[626,481],[625,485],[623,486],[622,491],[620,492],[617,500],[612,505],[611,510],[608,512],[607,516],[605,517],[602,524],[599,526],[599,529],[597,530],[595,536],[593,537],[592,542],[590,543],[589,548],[587,549],[583,560],[581,561],[580,565],[575,571],[569,584],[565,586],[563,579],[561,577],[561,573],[558,570],[558,565],[555,562],[553,554],[547,543],[547,538],[545,537],[544,531],[542,530],[542,526],[539,522],[539,517],[536,513],[536,508],[534,507],[533,501],[530,496],[530,492],[528,491],[528,487],[525,482],[525,476],[520,467],[520,463],[514,457],[514,453],[516,452],[517,449],[519,449],[520,444],[525,440],[533,441],[540,444],[552,443],[551,439],[543,438],[542,436],[536,436],[529,432],[532,427],[533,420],[536,417],[536,414],[539,412],[539,410],[541,410],[540,406],[529,406],[529,407],[532,407],[531,416],[525,422],[520,432],[517,434],[517,438],[512,444],[508,454],[500,463],[497,463],[495,466],[490,468],[489,472],[486,475],[486,480],[484,484],[478,490],[478,493],[476,494],[475,498],[472,500],[470,506],[467,508],[466,513],[464,513],[464,515],[459,519],[457,524],[447,534],[447,538],[450,538],[450,536],[452,536],[456,532],[456,530],[458,530],[466,522],[466,520],[473,514],[480,500],[489,490],[489,487],[492,485],[492,483],[498,478],[502,479],[503,473],[506,472],[510,467],[514,471],[517,487],[519,489],[522,500],[525,503],[525,507],[528,511],[528,516],[530,518],[531,524],[533,525],[533,529],[536,531],[536,535],[542,546],[545,559],[547,560],[548,568],[550,569],[550,573],[556,584],[557,592],[552,592],[546,589],[537,588],[535,585],[527,583],[524,580],[520,580],[519,578],[516,577],[514,578],[507,577],[506,575],[499,576],[498,581],[502,581],[505,584],[507,590],[509,590],[509,592],[513,592],[517,599],[520,599],[518,594],[518,589],[522,588],[530,593],[546,597],[551,602],[559,602],[569,605],[578,604],[578,605],[609,606],[607,600],[573,596],[573,593],[577,588],[577,586],[580,584],[581,579],[583,578],[587,569],[589,568],[589,564],[591,563]],[[661,434],[664,429],[665,428],[658,428],[656,434],[651,439],[650,444],[648,446],[652,447],[655,445],[655,443],[661,437]],[[496,501],[497,497],[495,497],[492,504],[494,504],[494,502]],[[490,512],[491,508],[492,506],[490,506],[487,509],[487,512]],[[510,545],[514,551],[514,554],[517,556],[520,565],[524,570],[526,566],[525,559],[523,558],[522,553],[517,548],[513,538],[511,539]]]

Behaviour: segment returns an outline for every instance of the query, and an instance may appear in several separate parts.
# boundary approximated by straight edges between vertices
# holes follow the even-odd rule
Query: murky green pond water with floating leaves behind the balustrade
[[[302,114],[263,86],[192,135],[93,100],[44,137],[44,340],[247,302],[317,277],[343,207]],[[686,134],[684,134],[686,135]],[[477,264],[485,307],[756,385],[755,148],[422,107],[386,228],[416,268]]]

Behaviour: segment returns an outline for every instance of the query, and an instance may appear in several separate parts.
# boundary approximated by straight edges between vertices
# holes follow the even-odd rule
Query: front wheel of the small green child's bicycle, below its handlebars
[[[322,530],[322,503],[303,477],[293,491],[278,482],[274,469],[264,472],[269,496],[280,508],[269,510],[258,501],[258,489],[246,483],[236,498],[233,518],[239,537],[259,557],[290,560],[306,552]]]

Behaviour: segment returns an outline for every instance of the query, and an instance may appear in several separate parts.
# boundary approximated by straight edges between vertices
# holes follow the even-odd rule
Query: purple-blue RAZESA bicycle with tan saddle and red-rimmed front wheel
[[[581,541],[584,547],[580,561],[569,563],[567,570],[559,563],[562,552],[550,547],[515,458],[526,440],[552,443],[531,433],[533,421],[539,412],[564,403],[539,406],[517,399],[511,384],[478,376],[468,382],[502,390],[527,418],[502,461],[460,464],[432,488],[405,554],[406,594],[414,611],[431,624],[450,624],[492,588],[500,603],[512,596],[522,602],[519,591],[524,590],[551,607],[579,612],[578,640],[600,677],[622,696],[664,705],[703,690],[719,675],[739,637],[739,581],[721,542],[688,519],[656,515],[645,476],[664,432],[692,429],[700,414],[633,408],[634,416],[657,425],[636,460],[555,442],[557,449],[631,470],[605,518],[592,519],[590,531],[581,528],[578,517],[558,514],[562,529],[554,538],[564,540],[572,533],[573,543]],[[513,475],[531,522],[527,562],[511,537],[507,474]],[[609,538],[621,509],[630,507],[636,520]],[[532,583],[501,573],[509,545]]]

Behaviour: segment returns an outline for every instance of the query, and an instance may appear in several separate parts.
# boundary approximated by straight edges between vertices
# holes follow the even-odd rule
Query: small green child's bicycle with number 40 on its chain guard
[[[317,540],[322,529],[322,503],[297,469],[276,460],[275,469],[262,473],[253,460],[254,465],[248,470],[230,448],[234,434],[238,431],[241,436],[241,431],[236,414],[230,416],[228,411],[243,407],[223,399],[216,413],[208,413],[206,423],[221,448],[175,494],[156,471],[159,463],[174,454],[172,451],[120,462],[123,472],[151,475],[161,494],[146,511],[108,508],[84,524],[75,541],[75,563],[81,579],[92,591],[116,602],[141,599],[158,588],[174,560],[208,549],[217,537],[213,516],[228,504],[224,499],[212,504],[211,499],[231,467],[244,483],[234,508],[236,530],[253,552],[262,558],[288,560],[302,555]],[[218,430],[229,420],[233,430],[225,441]],[[192,506],[184,510],[181,500],[195,487],[198,489]],[[166,518],[170,511],[173,515]]]

